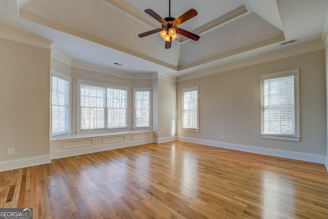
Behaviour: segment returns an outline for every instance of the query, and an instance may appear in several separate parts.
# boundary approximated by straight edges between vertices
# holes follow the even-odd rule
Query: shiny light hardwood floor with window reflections
[[[328,218],[324,165],[185,142],[0,172],[0,207],[34,218]]]

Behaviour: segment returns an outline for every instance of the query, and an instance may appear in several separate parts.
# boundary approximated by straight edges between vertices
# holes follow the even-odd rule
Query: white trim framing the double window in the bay
[[[80,86],[81,83],[85,84],[91,84],[95,86],[105,86],[106,87],[106,95],[107,95],[107,87],[113,88],[113,89],[121,89],[121,90],[126,90],[127,91],[127,99],[126,99],[126,105],[127,105],[127,114],[126,114],[126,121],[127,121],[127,127],[126,128],[107,128],[107,104],[105,105],[105,128],[101,129],[86,129],[86,130],[81,130],[80,129],[80,124],[81,124],[81,107],[80,107]],[[106,133],[106,132],[117,132],[117,131],[126,131],[129,130],[129,103],[130,103],[130,95],[129,95],[129,87],[125,86],[119,86],[119,85],[112,85],[112,84],[107,84],[107,83],[101,83],[101,82],[94,82],[94,81],[88,81],[85,79],[77,79],[77,106],[76,106],[76,134],[88,134],[88,133]],[[107,101],[107,99],[106,99]]]

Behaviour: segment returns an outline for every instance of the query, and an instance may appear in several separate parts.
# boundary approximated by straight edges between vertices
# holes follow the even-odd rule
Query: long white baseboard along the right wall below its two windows
[[[264,154],[264,155],[290,158],[290,159],[300,160],[300,161],[308,161],[308,162],[313,162],[313,163],[325,164],[325,166],[328,170],[328,160],[327,160],[327,157],[324,155],[301,153],[301,152],[295,152],[295,151],[286,151],[286,150],[279,150],[279,149],[272,149],[272,148],[261,148],[261,147],[256,147],[256,146],[239,145],[239,144],[232,144],[232,143],[226,143],[226,142],[209,141],[209,140],[202,140],[202,139],[198,139],[198,138],[190,138],[190,137],[183,137],[183,136],[178,136],[177,139],[179,141],[183,141],[183,142],[191,142],[191,143],[197,143],[197,144],[202,144],[202,145],[209,145],[209,146],[214,146],[214,147],[233,149],[233,150],[238,150],[238,151],[245,151],[245,152],[251,152],[251,153],[258,153],[258,154]]]

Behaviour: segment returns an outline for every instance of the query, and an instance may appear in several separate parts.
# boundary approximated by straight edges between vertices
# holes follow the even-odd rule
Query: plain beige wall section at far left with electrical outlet
[[[3,38],[0,48],[0,161],[49,155],[50,50]]]

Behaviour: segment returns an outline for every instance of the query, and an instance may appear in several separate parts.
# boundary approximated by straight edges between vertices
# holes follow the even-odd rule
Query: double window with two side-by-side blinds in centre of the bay
[[[128,127],[128,88],[78,80],[80,131]]]

